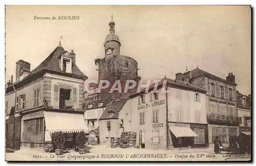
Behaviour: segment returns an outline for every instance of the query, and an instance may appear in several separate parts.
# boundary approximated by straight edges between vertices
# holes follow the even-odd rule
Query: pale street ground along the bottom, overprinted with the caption
[[[80,155],[71,151],[56,155],[42,149],[22,149],[6,153],[7,161],[225,161],[250,160],[250,155],[215,154],[212,148],[151,150],[134,148],[110,148],[88,146],[87,153]]]

